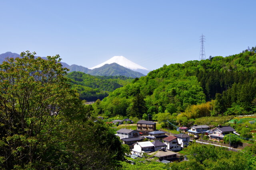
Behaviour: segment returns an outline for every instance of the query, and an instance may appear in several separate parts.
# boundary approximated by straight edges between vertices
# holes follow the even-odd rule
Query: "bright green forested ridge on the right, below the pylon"
[[[255,110],[256,55],[249,51],[183,64],[164,64],[147,76],[114,90],[95,106],[99,114],[142,117],[144,113],[184,112],[210,103],[212,115]],[[187,110],[188,111],[188,110]],[[238,113],[239,112],[239,113]]]

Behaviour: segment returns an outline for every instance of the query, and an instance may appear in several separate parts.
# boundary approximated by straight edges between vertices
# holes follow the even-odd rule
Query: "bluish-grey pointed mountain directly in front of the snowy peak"
[[[125,68],[124,66],[120,66],[117,63],[104,64],[99,68],[94,68],[93,70],[90,70],[88,74],[94,76],[126,76],[133,78],[144,76],[144,74],[140,72],[132,71],[128,68]]]

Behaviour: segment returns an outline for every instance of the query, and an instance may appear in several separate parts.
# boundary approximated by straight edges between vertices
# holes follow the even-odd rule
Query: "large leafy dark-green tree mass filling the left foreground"
[[[88,121],[92,110],[70,89],[59,56],[34,55],[0,65],[0,168],[116,166],[120,141],[102,122]]]

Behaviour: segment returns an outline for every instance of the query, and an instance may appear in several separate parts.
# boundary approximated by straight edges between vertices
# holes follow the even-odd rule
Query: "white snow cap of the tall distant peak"
[[[126,68],[129,68],[131,70],[137,70],[137,69],[148,70],[147,68],[140,66],[139,64],[133,63],[132,61],[126,59],[124,56],[114,56],[111,59],[109,59],[108,61],[105,61],[104,63],[101,63],[101,64],[96,65],[89,69],[99,68],[105,64],[111,64],[111,63],[117,63],[117,64],[124,66]]]

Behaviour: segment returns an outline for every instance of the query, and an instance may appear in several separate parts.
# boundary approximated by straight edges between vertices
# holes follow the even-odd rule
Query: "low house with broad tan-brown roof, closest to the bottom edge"
[[[162,160],[168,160],[168,161],[179,160],[179,158],[177,158],[176,152],[172,152],[170,150],[165,150],[165,149],[161,149],[156,152],[148,153],[148,155],[157,157],[160,161],[162,161]]]

